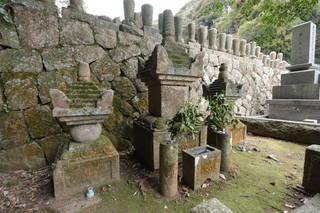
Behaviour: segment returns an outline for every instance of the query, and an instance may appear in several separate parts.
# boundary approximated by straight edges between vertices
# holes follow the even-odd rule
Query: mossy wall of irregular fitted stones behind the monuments
[[[48,90],[64,90],[76,81],[78,61],[90,64],[95,82],[115,91],[114,112],[104,122],[103,134],[118,149],[125,148],[133,119],[148,112],[148,90],[137,73],[161,35],[71,9],[63,9],[59,17],[55,6],[39,1],[13,2],[14,24],[0,23],[0,171],[39,168],[54,161],[69,136],[52,118]],[[190,45],[191,55],[200,51],[198,44]],[[263,113],[282,70],[266,67],[260,59],[204,51],[205,76],[190,88],[191,99],[201,96],[202,84],[215,80],[215,66],[228,62],[232,80],[244,84],[237,110]]]

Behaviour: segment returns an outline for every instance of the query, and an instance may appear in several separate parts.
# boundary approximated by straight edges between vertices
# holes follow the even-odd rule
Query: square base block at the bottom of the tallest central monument
[[[179,153],[182,150],[207,144],[207,127],[197,127],[199,132],[194,138],[185,136],[177,138]],[[159,169],[160,143],[170,139],[168,131],[157,131],[146,127],[139,122],[134,122],[134,141],[136,157],[151,170]]]

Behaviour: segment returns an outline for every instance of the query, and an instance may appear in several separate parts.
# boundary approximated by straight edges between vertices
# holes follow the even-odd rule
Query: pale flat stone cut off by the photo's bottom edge
[[[214,198],[191,209],[191,213],[232,213],[232,211]]]

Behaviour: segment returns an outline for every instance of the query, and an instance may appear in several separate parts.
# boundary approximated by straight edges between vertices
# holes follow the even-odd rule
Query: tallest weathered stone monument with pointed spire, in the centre
[[[150,169],[159,168],[160,143],[169,140],[166,121],[188,102],[189,86],[203,75],[204,54],[190,58],[183,44],[175,41],[174,17],[163,13],[163,41],[157,45],[138,75],[149,89],[149,115],[134,122],[134,146],[137,157]],[[200,128],[200,127],[199,127]],[[193,146],[206,144],[206,127]],[[180,152],[189,141],[178,142]]]

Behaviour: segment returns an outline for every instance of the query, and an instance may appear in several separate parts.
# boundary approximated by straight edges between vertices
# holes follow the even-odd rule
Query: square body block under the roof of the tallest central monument
[[[153,116],[173,116],[188,101],[188,94],[187,86],[150,86],[149,112]]]

